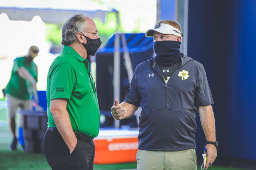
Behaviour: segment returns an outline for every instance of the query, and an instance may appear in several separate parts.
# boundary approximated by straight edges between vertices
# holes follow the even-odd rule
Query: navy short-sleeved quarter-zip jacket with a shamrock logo
[[[140,150],[179,151],[195,148],[196,106],[213,98],[203,65],[182,54],[167,83],[154,58],[137,65],[125,102],[142,107]]]

